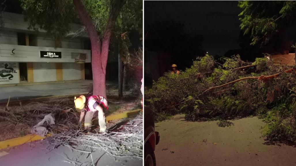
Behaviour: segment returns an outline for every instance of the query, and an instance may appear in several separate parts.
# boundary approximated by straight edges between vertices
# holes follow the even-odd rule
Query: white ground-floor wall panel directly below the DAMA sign
[[[57,81],[55,63],[33,63],[34,82]]]

